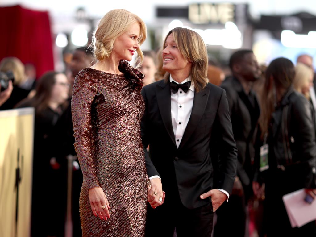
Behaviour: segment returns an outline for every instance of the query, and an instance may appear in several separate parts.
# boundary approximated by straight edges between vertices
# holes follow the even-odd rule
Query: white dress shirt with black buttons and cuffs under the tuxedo
[[[170,82],[176,82],[173,80],[172,76],[170,75]],[[185,82],[191,82],[190,76],[186,78],[181,84],[184,84]],[[170,92],[171,97],[171,121],[172,121],[172,128],[173,128],[173,134],[174,138],[176,140],[177,148],[179,148],[179,145],[181,143],[186,125],[188,125],[192,107],[193,107],[193,100],[194,100],[194,85],[193,82],[191,82],[191,86],[187,93],[185,93],[181,88],[179,88],[178,92],[176,94],[173,94],[173,92]],[[154,178],[160,178],[158,175],[154,175],[149,177],[149,179]],[[219,189],[219,191],[222,191],[227,196],[227,201],[229,198],[229,194],[227,191]],[[202,194],[202,193],[201,193]]]

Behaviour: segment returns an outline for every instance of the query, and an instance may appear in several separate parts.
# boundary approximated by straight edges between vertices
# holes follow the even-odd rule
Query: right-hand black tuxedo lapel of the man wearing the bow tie
[[[206,108],[206,104],[210,94],[210,87],[207,85],[202,91],[194,93],[192,112],[188,124],[186,125],[179,149],[188,141],[191,134],[196,129]]]

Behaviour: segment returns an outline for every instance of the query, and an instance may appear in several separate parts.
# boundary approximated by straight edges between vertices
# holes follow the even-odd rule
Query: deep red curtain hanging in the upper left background
[[[52,33],[48,12],[21,6],[0,8],[0,60],[14,56],[31,63],[37,77],[54,70]]]

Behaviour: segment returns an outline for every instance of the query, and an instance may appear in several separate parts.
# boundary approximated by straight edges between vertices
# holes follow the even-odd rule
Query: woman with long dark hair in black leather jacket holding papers
[[[294,65],[286,58],[273,60],[266,70],[259,125],[261,138],[268,145],[264,147],[268,166],[260,167],[265,183],[267,236],[316,236],[315,221],[291,228],[282,200],[283,195],[302,188],[314,198],[316,194],[314,111],[310,102],[293,89],[294,76]],[[254,189],[255,194],[257,191]]]

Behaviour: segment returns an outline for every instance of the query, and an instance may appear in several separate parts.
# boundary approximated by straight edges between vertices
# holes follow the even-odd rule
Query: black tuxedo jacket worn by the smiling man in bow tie
[[[216,188],[231,193],[237,149],[225,91],[208,83],[201,92],[195,92],[191,117],[179,148],[171,122],[169,82],[161,80],[147,85],[141,94],[145,101],[141,133],[147,173],[149,177],[161,177],[166,198],[178,187],[185,207],[200,207],[210,202],[210,198],[202,200],[199,196],[214,188],[213,178]]]

